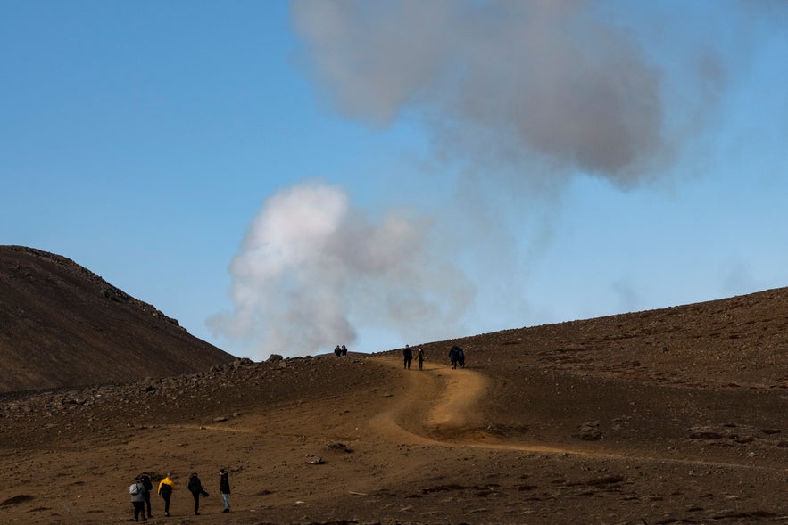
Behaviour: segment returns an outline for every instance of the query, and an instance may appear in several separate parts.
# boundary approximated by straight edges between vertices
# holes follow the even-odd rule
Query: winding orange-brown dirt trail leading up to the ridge
[[[457,445],[747,470],[782,470],[749,463],[652,457],[621,454],[610,450],[588,451],[580,448],[507,442],[484,431],[484,414],[481,405],[489,387],[489,379],[484,374],[468,368],[452,369],[450,365],[434,363],[425,364],[424,370],[419,370],[418,365],[414,365],[411,370],[403,370],[402,361],[398,358],[374,359],[381,365],[400,368],[400,373],[406,382],[408,398],[417,399],[416,402],[422,405],[420,410],[411,403],[395,406],[393,410],[378,415],[372,422],[373,426],[379,431],[385,431],[389,437],[396,437],[412,444]]]

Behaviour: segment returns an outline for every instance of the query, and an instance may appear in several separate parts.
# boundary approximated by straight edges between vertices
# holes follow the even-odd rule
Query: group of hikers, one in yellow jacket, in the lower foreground
[[[164,500],[164,515],[170,516],[170,498],[172,497],[174,483],[172,482],[172,474],[167,474],[161,481],[159,481],[159,489],[157,494],[162,496]],[[203,488],[203,482],[194,472],[189,476],[187,485],[189,492],[195,499],[195,516],[200,515],[200,496],[208,496],[208,492]],[[142,521],[148,518],[153,518],[151,512],[151,492],[153,491],[153,480],[150,474],[143,472],[134,479],[134,483],[129,487],[129,494],[131,495],[131,504],[134,506],[134,521],[139,521],[142,516]],[[227,470],[224,468],[219,470],[219,492],[221,494],[222,503],[224,503],[225,513],[230,512],[230,482]],[[145,517],[147,511],[147,517]]]

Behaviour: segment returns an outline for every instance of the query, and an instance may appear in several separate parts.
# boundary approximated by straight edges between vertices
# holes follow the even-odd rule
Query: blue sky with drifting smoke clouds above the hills
[[[780,2],[0,0],[0,243],[236,356],[788,284]]]

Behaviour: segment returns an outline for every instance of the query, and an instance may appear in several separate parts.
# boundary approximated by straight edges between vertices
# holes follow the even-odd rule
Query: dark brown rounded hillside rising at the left
[[[203,372],[233,359],[71,259],[0,246],[0,392]]]

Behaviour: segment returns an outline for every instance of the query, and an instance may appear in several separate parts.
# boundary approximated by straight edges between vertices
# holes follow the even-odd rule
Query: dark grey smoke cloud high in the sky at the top
[[[663,70],[599,4],[301,0],[293,18],[344,115],[385,126],[416,111],[446,158],[630,187],[672,161],[668,132],[698,117],[668,125]],[[713,54],[698,62],[701,115],[722,77]]]

